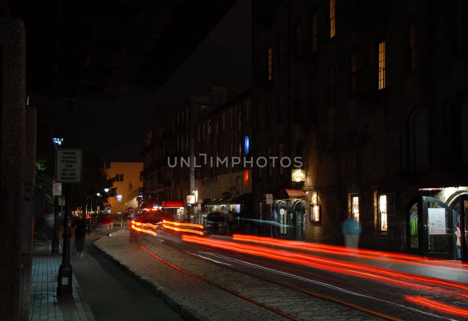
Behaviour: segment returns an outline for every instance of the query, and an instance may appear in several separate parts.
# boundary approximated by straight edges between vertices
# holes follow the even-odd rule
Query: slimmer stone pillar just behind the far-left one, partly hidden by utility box
[[[26,106],[24,185],[30,186],[36,185],[36,129],[36,107]],[[21,263],[22,292],[20,320],[28,321],[31,299],[32,253],[23,253],[21,255]]]

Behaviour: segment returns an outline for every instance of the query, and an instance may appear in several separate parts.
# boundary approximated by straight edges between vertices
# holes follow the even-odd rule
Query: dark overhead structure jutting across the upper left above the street
[[[3,11],[24,21],[29,95],[116,99],[164,84],[234,3],[15,0]]]

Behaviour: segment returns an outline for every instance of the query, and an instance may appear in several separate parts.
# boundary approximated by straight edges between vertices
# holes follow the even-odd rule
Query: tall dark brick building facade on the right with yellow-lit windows
[[[306,173],[296,183],[290,171],[258,179],[255,169],[257,212],[266,192],[302,190],[305,215],[295,224],[306,226],[297,238],[343,244],[341,223],[355,215],[362,247],[439,247],[453,258],[454,212],[464,207],[457,196],[468,185],[466,4],[256,0],[252,13],[254,149],[278,156],[284,144]],[[421,233],[429,200],[447,205],[452,232]],[[420,236],[411,248],[414,204]]]

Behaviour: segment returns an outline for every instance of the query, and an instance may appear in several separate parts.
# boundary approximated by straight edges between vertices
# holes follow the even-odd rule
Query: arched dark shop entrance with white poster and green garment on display
[[[453,210],[433,197],[415,197],[406,211],[408,252],[428,258],[455,258]]]

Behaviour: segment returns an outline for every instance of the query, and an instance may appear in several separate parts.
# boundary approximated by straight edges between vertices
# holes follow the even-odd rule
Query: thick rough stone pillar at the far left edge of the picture
[[[0,320],[18,320],[21,308],[21,249],[25,153],[24,23],[0,18]],[[30,282],[30,281],[29,281]]]

